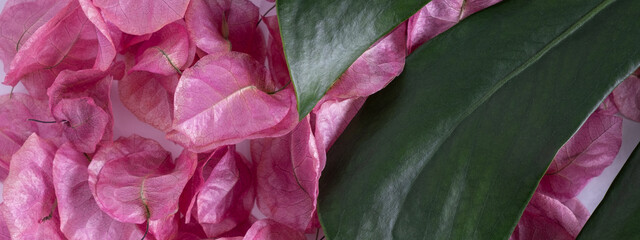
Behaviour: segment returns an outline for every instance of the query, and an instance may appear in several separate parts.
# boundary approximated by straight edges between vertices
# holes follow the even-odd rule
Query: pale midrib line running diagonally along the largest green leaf
[[[507,74],[502,79],[500,79],[491,89],[489,89],[489,91],[485,95],[483,95],[480,98],[480,100],[475,101],[474,103],[472,103],[470,105],[470,107],[467,108],[467,110],[464,111],[461,114],[461,116],[458,118],[459,121],[452,128],[450,128],[450,130],[445,134],[443,139],[449,139],[451,137],[451,134],[460,126],[460,124],[464,121],[464,119],[466,119],[469,115],[471,115],[473,112],[475,112],[480,107],[480,105],[484,104],[491,96],[493,96],[499,89],[501,89],[502,86],[504,86],[511,79],[513,79],[516,76],[518,76],[525,69],[527,69],[530,66],[532,66],[538,60],[540,60],[551,49],[553,49],[555,46],[560,44],[563,40],[565,40],[567,37],[569,37],[571,34],[573,34],[582,25],[584,25],[586,22],[591,20],[595,15],[600,13],[604,8],[606,8],[607,6],[609,6],[613,2],[615,2],[615,0],[605,0],[602,3],[598,4],[592,10],[590,10],[588,13],[586,13],[584,16],[582,16],[580,19],[578,19],[578,21],[576,21],[574,24],[572,24],[569,28],[567,28],[565,31],[563,31],[560,35],[558,35],[556,38],[554,38],[551,42],[546,44],[534,56],[530,57],[526,62],[524,62],[519,67],[517,67],[516,69],[511,71],[509,74]],[[439,142],[438,146],[436,146],[436,148],[435,148],[436,151],[434,152],[433,155],[435,155],[436,152],[438,152],[440,150],[440,147],[442,146],[442,144],[444,144],[444,142],[445,141],[440,141]],[[421,166],[419,166],[420,170],[416,171],[416,173],[420,174],[421,172],[423,172],[426,165],[427,164],[421,164]],[[540,178],[542,176],[540,176]],[[402,198],[402,204],[399,205],[401,208],[404,208],[404,205],[406,204],[406,201],[407,201],[406,194],[408,194],[411,191],[411,189],[414,188],[414,185],[416,184],[415,177],[413,177],[413,178],[414,178],[414,181],[411,181],[409,188],[407,188],[408,191],[405,192],[405,196]],[[538,182],[539,181],[540,181],[540,179],[538,179]],[[524,210],[524,209],[522,209],[522,210]],[[393,228],[392,229],[396,228],[396,223],[397,223],[397,220],[399,219],[399,217],[400,217],[399,215],[401,213],[402,213],[401,211],[398,211],[397,215],[393,219]],[[458,215],[458,211],[456,211],[455,215]],[[522,215],[522,211],[521,211],[521,213],[519,215]],[[455,216],[454,216],[454,218],[455,218]],[[515,227],[515,225],[514,225],[514,227]],[[337,236],[338,235],[336,235],[336,237]]]

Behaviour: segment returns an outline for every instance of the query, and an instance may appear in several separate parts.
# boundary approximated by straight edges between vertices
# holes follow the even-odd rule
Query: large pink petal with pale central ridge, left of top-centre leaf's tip
[[[264,66],[249,55],[208,55],[184,71],[167,137],[196,152],[244,139],[280,136],[297,122],[291,88],[264,89]],[[206,124],[205,124],[206,123]]]

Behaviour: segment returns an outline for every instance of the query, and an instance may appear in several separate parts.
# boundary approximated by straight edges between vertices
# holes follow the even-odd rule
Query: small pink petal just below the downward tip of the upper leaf
[[[331,148],[365,100],[366,98],[329,100],[313,109],[314,135],[319,149],[322,149],[321,154],[326,154],[326,150]]]

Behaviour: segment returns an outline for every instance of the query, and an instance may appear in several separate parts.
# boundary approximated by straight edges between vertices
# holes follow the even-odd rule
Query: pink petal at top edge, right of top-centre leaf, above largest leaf
[[[469,15],[501,0],[433,0],[409,18],[409,53]]]

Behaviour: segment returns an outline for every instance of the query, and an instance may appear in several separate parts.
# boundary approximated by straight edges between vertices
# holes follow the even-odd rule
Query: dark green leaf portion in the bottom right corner
[[[640,145],[613,180],[577,239],[640,239]]]

